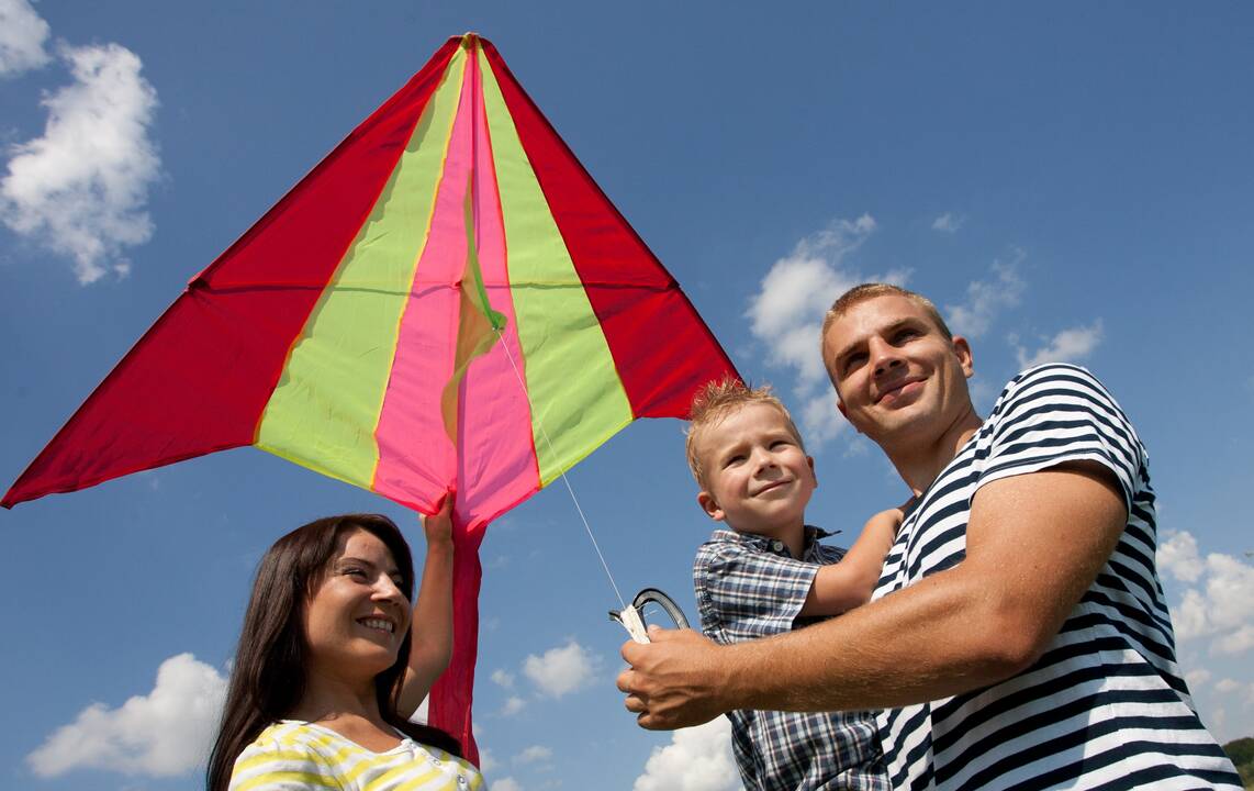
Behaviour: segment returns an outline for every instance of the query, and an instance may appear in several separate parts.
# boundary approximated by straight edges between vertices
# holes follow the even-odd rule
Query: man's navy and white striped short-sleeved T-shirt
[[[981,486],[1072,461],[1119,481],[1129,515],[1119,545],[1035,665],[879,714],[894,787],[1241,787],[1176,667],[1145,448],[1087,370],[1041,365],[1006,385],[907,515],[873,598],[962,562]]]

